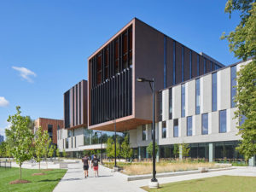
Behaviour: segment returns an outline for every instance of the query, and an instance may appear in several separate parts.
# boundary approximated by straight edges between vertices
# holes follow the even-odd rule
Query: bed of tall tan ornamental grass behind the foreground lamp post
[[[109,168],[113,168],[113,162],[106,162],[105,166]],[[133,162],[133,163],[125,163],[118,162],[117,166],[119,166],[123,173],[127,175],[143,175],[152,173],[152,162]],[[156,163],[156,172],[181,172],[181,171],[189,171],[189,170],[198,170],[199,167],[207,167],[209,169],[212,168],[220,168],[224,167],[221,165],[216,165],[215,163],[209,162],[198,162],[198,161],[189,161],[189,160],[181,160],[181,161],[163,161]]]

